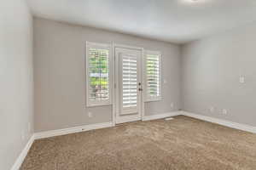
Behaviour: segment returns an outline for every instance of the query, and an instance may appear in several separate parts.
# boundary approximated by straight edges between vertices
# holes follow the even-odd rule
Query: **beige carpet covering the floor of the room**
[[[21,170],[255,170],[256,134],[187,116],[39,139]]]

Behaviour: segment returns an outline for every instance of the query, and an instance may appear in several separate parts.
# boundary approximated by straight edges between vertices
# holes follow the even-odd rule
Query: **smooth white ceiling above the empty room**
[[[177,43],[256,20],[255,0],[27,1],[38,17]]]

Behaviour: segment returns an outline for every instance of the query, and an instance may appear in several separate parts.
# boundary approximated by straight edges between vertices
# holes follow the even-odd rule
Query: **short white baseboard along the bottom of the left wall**
[[[33,142],[34,142],[34,135],[32,135],[32,137],[26,143],[25,148],[21,151],[20,156],[15,161],[15,164],[13,165],[11,170],[19,170],[20,169],[20,166],[21,166],[22,162],[25,160],[26,155],[27,155],[28,151],[30,150]]]

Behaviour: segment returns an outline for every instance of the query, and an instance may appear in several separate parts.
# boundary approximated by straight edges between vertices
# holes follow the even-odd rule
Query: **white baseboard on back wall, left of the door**
[[[96,123],[96,124],[84,125],[79,127],[50,130],[50,131],[35,133],[34,136],[35,136],[35,139],[44,139],[44,138],[60,136],[60,135],[69,134],[69,133],[79,133],[79,132],[105,128],[105,127],[113,127],[113,122],[103,122],[103,123]]]

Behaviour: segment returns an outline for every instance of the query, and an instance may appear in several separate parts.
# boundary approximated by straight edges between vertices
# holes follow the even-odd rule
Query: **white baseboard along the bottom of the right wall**
[[[202,115],[198,115],[198,114],[195,114],[195,113],[190,113],[190,112],[187,112],[187,111],[182,111],[181,114],[183,116],[190,116],[190,117],[194,117],[196,119],[200,119],[200,120],[207,121],[207,122],[214,122],[214,123],[223,125],[225,127],[232,127],[232,128],[236,128],[236,129],[239,129],[239,130],[242,130],[242,131],[247,131],[247,132],[250,132],[250,133],[256,133],[256,127],[249,126],[249,125],[246,125],[246,124],[225,121],[225,120],[218,119],[218,118],[213,118],[213,117],[210,117],[210,116],[202,116]]]

